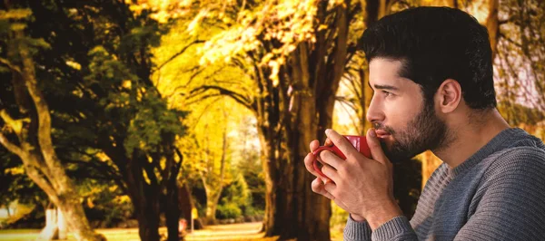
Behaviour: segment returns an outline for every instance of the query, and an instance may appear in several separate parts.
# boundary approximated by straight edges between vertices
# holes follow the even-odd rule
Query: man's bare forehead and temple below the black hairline
[[[399,60],[376,58],[369,63],[369,83],[374,85],[391,85],[400,89],[418,87],[419,85],[400,76],[403,63]]]

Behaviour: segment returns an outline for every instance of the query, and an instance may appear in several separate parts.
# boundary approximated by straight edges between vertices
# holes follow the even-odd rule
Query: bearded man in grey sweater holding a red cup
[[[418,7],[370,26],[363,51],[372,159],[326,130],[347,159],[320,153],[331,179],[312,169],[312,153],[304,160],[312,190],[350,213],[344,239],[544,240],[545,146],[496,110],[486,28],[460,10]],[[392,195],[391,162],[426,149],[443,163],[409,221]]]

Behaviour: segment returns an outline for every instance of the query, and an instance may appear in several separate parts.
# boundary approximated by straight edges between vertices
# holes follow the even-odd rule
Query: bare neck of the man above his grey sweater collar
[[[496,109],[479,113],[479,115],[481,117],[477,117],[477,119],[481,119],[481,121],[477,123],[474,121],[475,118],[470,117],[468,119],[473,120],[472,123],[465,120],[464,123],[453,125],[450,131],[450,140],[445,143],[446,147],[431,150],[452,169],[469,159],[502,130],[510,128]]]

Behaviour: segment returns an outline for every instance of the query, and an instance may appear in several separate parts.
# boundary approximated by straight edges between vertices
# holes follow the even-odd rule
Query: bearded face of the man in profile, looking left
[[[401,61],[373,59],[369,66],[374,94],[367,120],[377,130],[388,159],[411,159],[440,147],[447,126],[435,114],[432,101],[424,100],[421,86],[399,75]]]

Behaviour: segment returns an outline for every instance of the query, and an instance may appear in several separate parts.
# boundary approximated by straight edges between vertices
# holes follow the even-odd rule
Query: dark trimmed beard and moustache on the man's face
[[[381,141],[384,154],[391,162],[412,159],[428,149],[442,149],[450,141],[446,123],[435,114],[433,102],[424,103],[422,110],[409,122],[405,130],[393,130],[381,123],[373,123],[375,129],[386,130],[393,142]]]

